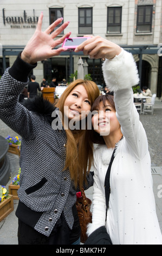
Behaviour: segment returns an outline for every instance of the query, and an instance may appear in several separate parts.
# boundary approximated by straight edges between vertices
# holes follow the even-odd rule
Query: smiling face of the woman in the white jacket
[[[92,125],[94,130],[102,136],[108,136],[118,131],[120,124],[116,118],[115,109],[106,100],[105,105],[101,101],[99,107],[93,111]]]

